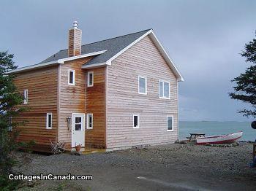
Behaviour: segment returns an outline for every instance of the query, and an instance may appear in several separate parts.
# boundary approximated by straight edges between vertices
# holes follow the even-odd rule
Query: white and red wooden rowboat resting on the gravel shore
[[[196,141],[197,144],[230,144],[240,139],[242,135],[243,131],[239,131],[221,136],[197,137]]]

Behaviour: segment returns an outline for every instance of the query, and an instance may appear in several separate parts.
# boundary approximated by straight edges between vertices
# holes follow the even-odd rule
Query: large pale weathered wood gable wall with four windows
[[[107,148],[164,144],[178,138],[177,79],[146,36],[108,66]],[[138,75],[147,77],[147,95],[138,94]],[[170,99],[159,98],[159,79],[170,81]],[[133,128],[133,114],[140,128]],[[167,131],[167,115],[174,130]]]

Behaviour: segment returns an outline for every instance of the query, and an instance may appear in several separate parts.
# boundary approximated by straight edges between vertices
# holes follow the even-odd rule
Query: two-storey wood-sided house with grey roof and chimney
[[[67,50],[10,71],[30,110],[15,120],[19,141],[44,151],[50,140],[126,149],[178,139],[178,82],[183,81],[152,29],[81,45],[74,22]]]

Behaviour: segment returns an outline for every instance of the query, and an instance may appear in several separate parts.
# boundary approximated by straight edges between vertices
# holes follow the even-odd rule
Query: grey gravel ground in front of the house
[[[29,154],[25,159],[15,171],[93,176],[91,181],[40,181],[30,190],[256,189],[249,143],[237,147],[167,144],[82,156]]]

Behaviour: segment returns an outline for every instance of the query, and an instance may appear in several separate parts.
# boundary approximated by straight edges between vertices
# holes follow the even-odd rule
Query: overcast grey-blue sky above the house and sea
[[[2,1],[0,51],[18,66],[67,49],[78,20],[82,44],[153,28],[185,81],[179,83],[180,120],[248,121],[248,104],[231,100],[231,79],[243,73],[240,53],[255,38],[256,1],[126,0]]]

